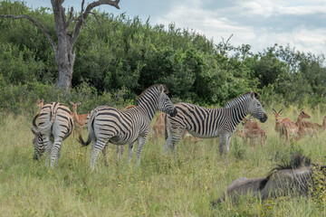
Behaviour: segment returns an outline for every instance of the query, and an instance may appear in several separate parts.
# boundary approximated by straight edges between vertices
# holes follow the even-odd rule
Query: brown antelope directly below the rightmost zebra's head
[[[252,117],[249,117],[249,119],[244,118],[244,121],[245,124],[243,133],[245,142],[247,142],[247,139],[249,138],[251,146],[254,146],[254,140],[259,141],[260,145],[264,146],[267,138],[266,131],[262,129],[262,127],[260,127]]]

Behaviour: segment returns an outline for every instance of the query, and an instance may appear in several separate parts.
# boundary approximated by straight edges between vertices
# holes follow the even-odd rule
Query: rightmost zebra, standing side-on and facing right
[[[168,116],[169,134],[166,137],[165,152],[168,153],[168,148],[171,147],[176,156],[177,143],[187,129],[194,137],[220,137],[220,157],[225,154],[225,164],[227,164],[230,137],[245,116],[250,114],[263,123],[267,120],[267,115],[258,99],[259,95],[255,92],[245,93],[228,101],[225,108],[219,109],[206,109],[188,103],[178,103],[176,105],[177,116]]]

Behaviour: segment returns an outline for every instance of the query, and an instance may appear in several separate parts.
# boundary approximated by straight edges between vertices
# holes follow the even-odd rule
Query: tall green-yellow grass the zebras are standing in
[[[325,114],[305,109],[321,124]],[[299,109],[286,109],[283,117],[296,120]],[[108,148],[110,165],[102,156],[94,172],[89,169],[91,146],[82,147],[69,137],[62,146],[59,165],[50,169],[33,160],[33,134],[29,115],[0,114],[0,212],[1,216],[322,216],[323,190],[315,197],[282,197],[261,203],[241,198],[216,208],[216,200],[239,177],[262,177],[280,160],[294,152],[326,165],[326,132],[304,137],[296,145],[283,146],[273,130],[273,113],[261,124],[267,127],[267,143],[245,145],[232,137],[229,164],[219,161],[218,138],[187,140],[177,146],[177,160],[164,155],[164,138],[149,136],[140,166],[134,153],[127,163],[128,147],[119,162],[116,146]],[[154,121],[153,121],[154,122]],[[84,129],[83,137],[87,137]]]

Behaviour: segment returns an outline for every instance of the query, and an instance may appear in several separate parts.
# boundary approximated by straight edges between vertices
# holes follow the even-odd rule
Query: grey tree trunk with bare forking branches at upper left
[[[88,26],[85,20],[88,18],[89,14],[91,14],[91,10],[99,5],[112,5],[120,9],[118,5],[120,0],[94,1],[87,5],[85,9],[85,1],[82,0],[81,13],[75,16],[73,14],[73,7],[71,7],[68,17],[65,8],[62,6],[63,2],[64,0],[51,0],[57,42],[55,42],[55,38],[49,33],[46,26],[41,21],[34,19],[28,14],[0,14],[0,18],[26,19],[34,24],[34,26],[46,36],[53,47],[54,57],[59,71],[58,87],[68,90],[72,85],[72,72],[75,61],[73,46],[82,33],[83,26]],[[6,3],[7,2],[5,2],[5,4]]]

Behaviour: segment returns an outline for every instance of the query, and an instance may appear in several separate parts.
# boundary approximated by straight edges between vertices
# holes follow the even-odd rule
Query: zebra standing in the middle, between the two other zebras
[[[137,100],[137,106],[131,109],[119,110],[108,106],[93,109],[88,120],[89,136],[84,142],[79,137],[83,146],[91,143],[91,169],[94,169],[97,157],[102,151],[105,165],[106,148],[110,143],[114,145],[129,144],[129,162],[133,147],[138,140],[137,161],[140,163],[141,150],[145,145],[150,131],[150,121],[157,110],[168,113],[171,117],[177,115],[177,110],[168,98],[168,88],[163,84],[155,84],[144,90]]]

